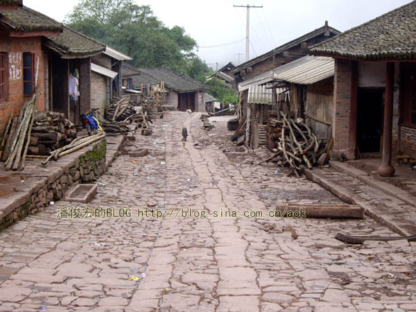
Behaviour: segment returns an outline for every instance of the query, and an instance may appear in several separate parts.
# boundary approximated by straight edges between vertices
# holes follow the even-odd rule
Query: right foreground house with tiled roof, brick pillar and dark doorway
[[[380,153],[416,158],[416,2],[392,10],[311,48],[335,59],[333,153],[356,159]]]

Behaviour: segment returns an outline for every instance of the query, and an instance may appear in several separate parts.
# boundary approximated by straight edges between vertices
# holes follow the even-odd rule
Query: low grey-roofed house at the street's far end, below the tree
[[[168,89],[166,105],[182,112],[205,112],[205,91],[208,87],[183,73],[176,73],[166,67],[135,68],[123,65],[123,86],[129,89],[141,89],[148,85],[158,85],[162,81]]]

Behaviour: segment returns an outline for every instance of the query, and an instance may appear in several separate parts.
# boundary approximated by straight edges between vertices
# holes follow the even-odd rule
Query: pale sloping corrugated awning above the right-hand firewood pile
[[[275,80],[282,80],[288,83],[297,83],[299,85],[311,85],[320,80],[333,76],[334,60],[324,56],[304,56],[302,64],[296,67],[275,73]]]

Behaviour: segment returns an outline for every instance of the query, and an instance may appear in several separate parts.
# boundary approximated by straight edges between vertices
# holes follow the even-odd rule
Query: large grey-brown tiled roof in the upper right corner
[[[416,1],[311,47],[311,54],[375,59],[416,58]]]

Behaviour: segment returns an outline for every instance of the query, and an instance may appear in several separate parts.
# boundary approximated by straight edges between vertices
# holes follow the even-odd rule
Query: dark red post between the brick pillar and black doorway
[[[352,61],[351,67],[351,107],[349,110],[349,137],[347,159],[356,158],[357,142],[358,62]]]

